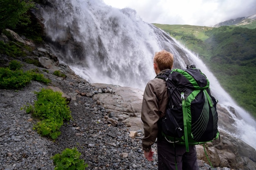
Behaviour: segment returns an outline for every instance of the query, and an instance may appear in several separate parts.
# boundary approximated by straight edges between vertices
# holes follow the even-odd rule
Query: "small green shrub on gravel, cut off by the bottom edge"
[[[54,170],[85,170],[88,167],[83,159],[79,159],[81,153],[77,148],[66,148],[61,154],[52,157],[55,168]]]

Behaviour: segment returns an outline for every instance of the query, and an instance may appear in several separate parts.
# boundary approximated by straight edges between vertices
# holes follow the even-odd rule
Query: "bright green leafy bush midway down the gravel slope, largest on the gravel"
[[[40,92],[35,92],[35,94],[37,101],[34,106],[27,106],[26,112],[39,119],[34,129],[40,135],[56,139],[61,134],[59,130],[63,125],[63,121],[68,121],[72,118],[67,101],[60,92],[54,92],[51,89],[43,88]]]

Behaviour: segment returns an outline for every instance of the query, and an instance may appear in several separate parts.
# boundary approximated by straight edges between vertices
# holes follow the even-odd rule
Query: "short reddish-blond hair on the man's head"
[[[162,50],[155,53],[153,61],[157,64],[160,71],[173,68],[173,54],[168,51]]]

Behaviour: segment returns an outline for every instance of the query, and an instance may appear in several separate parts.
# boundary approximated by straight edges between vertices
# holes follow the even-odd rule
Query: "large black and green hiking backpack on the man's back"
[[[166,115],[159,120],[159,128],[169,142],[185,145],[186,152],[189,145],[219,138],[218,101],[210,93],[207,77],[193,67],[156,76],[166,81],[169,95]]]

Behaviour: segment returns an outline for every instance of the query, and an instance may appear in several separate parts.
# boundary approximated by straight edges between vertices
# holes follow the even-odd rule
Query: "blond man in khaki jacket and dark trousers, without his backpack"
[[[173,68],[173,54],[167,51],[155,53],[155,73],[162,74]],[[142,148],[148,161],[153,161],[151,146],[157,139],[158,170],[198,170],[195,146],[189,146],[189,151],[183,145],[169,143],[162,137],[157,124],[158,120],[165,115],[168,104],[166,82],[155,78],[148,82],[144,91],[141,109],[141,120],[144,123],[144,135]],[[176,163],[175,163],[176,162]]]

